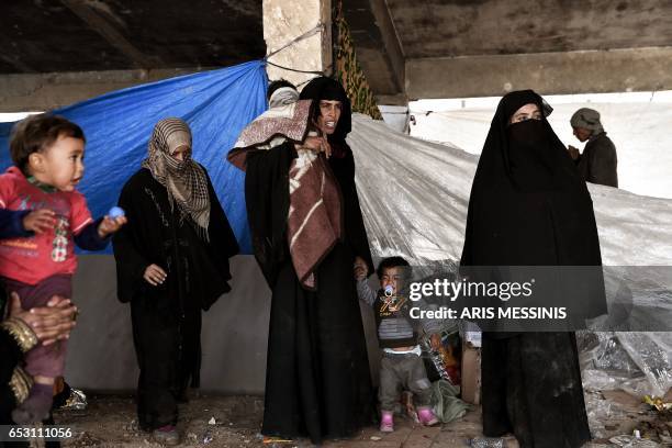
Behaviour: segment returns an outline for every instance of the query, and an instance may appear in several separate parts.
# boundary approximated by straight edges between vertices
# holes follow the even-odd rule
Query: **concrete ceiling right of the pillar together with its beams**
[[[343,1],[358,59],[374,92],[388,102],[423,94],[419,98],[460,96],[456,89],[430,83],[460,83],[464,81],[460,71],[478,76],[478,67],[485,78],[482,88],[468,89],[466,94],[499,94],[524,87],[524,79],[500,76],[512,67],[513,71],[524,67],[518,70],[523,77],[527,72],[530,78],[550,79],[548,67],[572,74],[584,71],[587,63],[614,81],[583,87],[578,82],[576,89],[672,88],[665,75],[670,67],[661,59],[669,54],[660,52],[672,48],[671,0]],[[650,47],[658,53],[647,53]],[[590,53],[595,51],[602,53]],[[630,64],[634,59],[638,66]],[[667,77],[662,83],[659,74]],[[561,83],[553,80],[546,90],[571,90]]]

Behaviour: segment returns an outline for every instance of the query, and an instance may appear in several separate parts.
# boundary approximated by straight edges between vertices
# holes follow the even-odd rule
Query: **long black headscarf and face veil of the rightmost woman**
[[[500,101],[471,187],[461,265],[601,266],[593,202],[564,145],[546,116],[509,124],[529,103],[552,110],[531,90]],[[589,271],[581,293],[594,316],[605,311],[604,282],[601,269]]]

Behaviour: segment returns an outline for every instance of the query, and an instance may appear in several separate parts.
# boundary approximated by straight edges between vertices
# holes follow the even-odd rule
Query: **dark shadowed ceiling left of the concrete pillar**
[[[4,0],[0,72],[221,67],[260,58],[261,0]]]

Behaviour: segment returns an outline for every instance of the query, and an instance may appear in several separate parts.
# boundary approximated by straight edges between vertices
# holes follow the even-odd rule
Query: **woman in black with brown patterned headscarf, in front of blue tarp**
[[[177,402],[190,382],[199,385],[201,310],[231,290],[228,258],[238,245],[179,119],[156,124],[119,205],[128,225],[113,240],[117,296],[131,302],[138,422],[177,444]]]

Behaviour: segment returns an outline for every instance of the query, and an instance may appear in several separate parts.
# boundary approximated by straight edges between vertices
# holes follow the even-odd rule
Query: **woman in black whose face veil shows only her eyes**
[[[548,113],[531,90],[500,102],[473,180],[462,266],[601,266],[590,193]],[[589,278],[585,296],[571,299],[594,316],[604,284],[600,269]],[[573,333],[484,333],[481,378],[485,436],[513,433],[535,448],[590,440]]]

